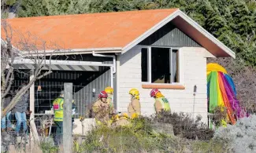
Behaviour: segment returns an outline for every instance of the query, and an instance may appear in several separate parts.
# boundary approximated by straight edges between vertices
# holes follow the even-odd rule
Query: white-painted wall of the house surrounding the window
[[[143,89],[141,82],[141,47],[135,46],[127,53],[120,55],[120,71],[118,72],[118,110],[127,111],[131,88],[139,89],[141,111],[143,115],[154,114],[154,99],[150,98],[151,89]],[[198,47],[180,48],[184,66],[185,89],[160,89],[169,100],[172,111],[192,113],[195,96],[195,116],[202,115],[207,122],[207,87],[206,87],[206,49]],[[182,75],[182,74],[180,74]]]

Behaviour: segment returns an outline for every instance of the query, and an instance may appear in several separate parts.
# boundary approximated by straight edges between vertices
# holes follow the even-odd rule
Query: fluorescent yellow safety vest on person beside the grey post
[[[58,97],[54,100],[54,121],[63,121],[63,97]]]

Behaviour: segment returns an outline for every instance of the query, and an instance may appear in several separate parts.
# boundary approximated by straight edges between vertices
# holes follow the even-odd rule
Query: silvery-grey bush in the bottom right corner
[[[220,127],[214,134],[214,140],[221,140],[224,144],[230,144],[232,152],[256,152],[256,115],[241,118],[236,125]]]

